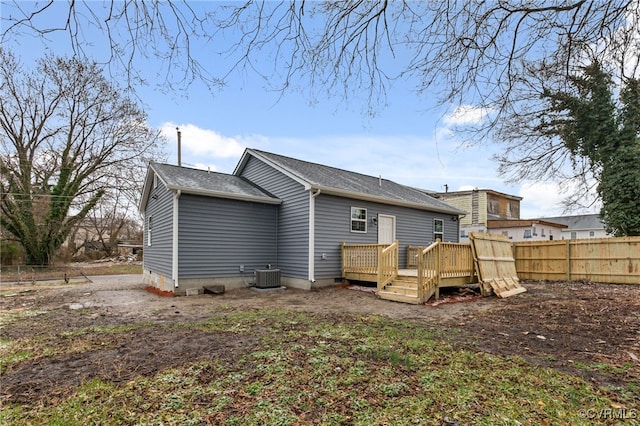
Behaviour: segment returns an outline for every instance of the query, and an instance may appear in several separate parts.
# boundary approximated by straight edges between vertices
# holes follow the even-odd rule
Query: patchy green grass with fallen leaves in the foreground
[[[608,421],[585,413],[625,407],[578,377],[469,350],[408,321],[260,310],[139,327],[169,336],[217,333],[229,342],[251,336],[256,344],[207,360],[184,357],[125,382],[89,378],[59,398],[9,398],[0,423],[580,425]],[[51,356],[47,347],[77,356],[123,344],[131,331],[87,327],[19,345],[3,340],[0,364]]]

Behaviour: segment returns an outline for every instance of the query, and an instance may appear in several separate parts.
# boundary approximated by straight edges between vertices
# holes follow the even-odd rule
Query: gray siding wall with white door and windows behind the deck
[[[315,278],[331,279],[341,275],[341,244],[377,244],[378,227],[372,217],[385,214],[396,217],[396,240],[399,241],[399,266],[407,263],[407,246],[433,242],[433,220],[444,221],[444,241],[458,242],[458,222],[451,215],[392,206],[361,200],[351,200],[320,194],[315,213]],[[351,207],[367,209],[367,232],[351,232]],[[322,254],[325,259],[322,259]]]

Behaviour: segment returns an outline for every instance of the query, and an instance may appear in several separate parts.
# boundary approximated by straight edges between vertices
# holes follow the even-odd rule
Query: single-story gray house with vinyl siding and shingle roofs
[[[144,280],[177,294],[246,286],[265,269],[290,287],[333,285],[343,242],[457,242],[464,214],[381,177],[255,149],[232,174],[151,163],[140,213]]]

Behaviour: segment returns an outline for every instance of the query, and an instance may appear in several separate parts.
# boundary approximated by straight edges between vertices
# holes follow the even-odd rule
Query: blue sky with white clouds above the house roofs
[[[216,3],[209,3],[215,7]],[[3,6],[2,14],[8,13]],[[85,53],[103,57],[100,35]],[[68,36],[52,34],[48,41],[29,36],[5,43],[25,64],[50,49],[67,53]],[[206,55],[206,51],[202,52]],[[142,63],[142,73],[154,80],[160,65],[153,58]],[[224,67],[211,60],[212,67]],[[550,183],[506,184],[491,160],[500,147],[491,141],[462,145],[451,132],[459,121],[473,123],[473,108],[453,114],[434,108],[434,96],[418,95],[412,82],[388,87],[387,102],[368,113],[365,97],[349,93],[348,100],[301,91],[268,90],[250,72],[232,73],[226,86],[210,93],[194,82],[187,90],[159,90],[155,84],[138,89],[149,124],[167,138],[168,162],[177,163],[176,127],[182,132],[182,163],[231,173],[246,147],[365,173],[401,184],[444,191],[474,187],[523,197],[521,217],[562,214],[563,195]]]

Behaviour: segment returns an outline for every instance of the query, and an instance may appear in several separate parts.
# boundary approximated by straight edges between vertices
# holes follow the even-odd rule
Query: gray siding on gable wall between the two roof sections
[[[242,176],[282,200],[278,218],[278,262],[287,277],[309,278],[309,192],[304,186],[255,157]]]

